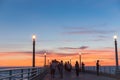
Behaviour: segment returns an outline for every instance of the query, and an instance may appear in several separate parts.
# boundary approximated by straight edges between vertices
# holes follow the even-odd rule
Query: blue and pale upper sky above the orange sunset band
[[[119,0],[1,0],[0,51],[113,47],[119,37]]]

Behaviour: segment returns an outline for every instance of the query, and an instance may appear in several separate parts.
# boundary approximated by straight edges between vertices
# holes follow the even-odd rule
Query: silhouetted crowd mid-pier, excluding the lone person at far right
[[[65,62],[63,64],[63,61],[58,62],[56,60],[52,60],[52,62],[50,64],[50,72],[51,72],[51,77],[52,78],[55,77],[56,69],[58,69],[60,77],[63,78],[63,70],[65,70],[67,72],[71,72],[72,65],[69,61]],[[76,76],[79,76],[80,68],[79,68],[78,61],[76,61],[76,64],[75,64],[75,71],[76,71]],[[82,63],[82,71],[84,71],[84,63]]]

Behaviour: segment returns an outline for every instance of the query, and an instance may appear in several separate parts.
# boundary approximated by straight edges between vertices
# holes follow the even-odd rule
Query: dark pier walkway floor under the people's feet
[[[57,73],[55,75],[55,78],[51,79],[50,74],[47,74],[43,80],[116,80],[116,79],[106,76],[97,76],[92,73],[81,73],[81,72],[77,77],[75,75],[75,71],[72,71],[71,73],[64,72],[63,78],[60,78],[59,74]]]

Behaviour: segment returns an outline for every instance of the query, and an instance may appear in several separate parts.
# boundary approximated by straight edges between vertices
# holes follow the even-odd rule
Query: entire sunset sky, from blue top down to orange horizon
[[[81,52],[86,65],[115,65],[119,21],[119,0],[0,0],[0,66],[31,66],[33,34],[37,66],[45,52],[51,60],[74,64]]]

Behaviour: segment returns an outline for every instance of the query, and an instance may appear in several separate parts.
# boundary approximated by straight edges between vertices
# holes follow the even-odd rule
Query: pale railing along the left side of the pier
[[[46,71],[46,68],[27,67],[0,70],[0,80],[34,80]]]

